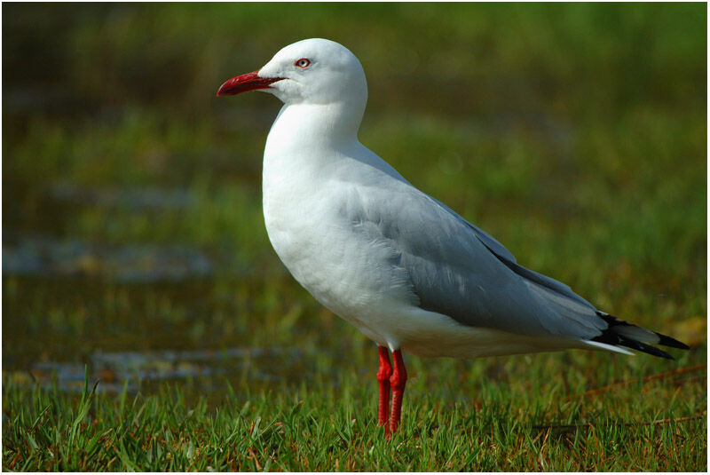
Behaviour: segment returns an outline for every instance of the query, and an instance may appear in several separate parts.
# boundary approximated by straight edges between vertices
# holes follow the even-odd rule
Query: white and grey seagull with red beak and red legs
[[[403,351],[477,358],[583,348],[672,359],[651,344],[689,348],[517,264],[363,146],[367,81],[343,45],[289,44],[217,96],[246,91],[283,102],[264,148],[269,240],[296,281],[378,345],[378,424],[388,437],[401,418]]]

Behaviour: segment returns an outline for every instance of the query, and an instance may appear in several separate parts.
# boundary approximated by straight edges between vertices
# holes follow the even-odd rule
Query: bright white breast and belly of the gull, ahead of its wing
[[[368,239],[343,212],[349,197],[357,199],[353,186],[297,156],[288,163],[264,156],[264,222],[296,281],[378,344],[388,344],[396,339],[388,321],[417,299],[404,269],[390,265],[393,250]]]

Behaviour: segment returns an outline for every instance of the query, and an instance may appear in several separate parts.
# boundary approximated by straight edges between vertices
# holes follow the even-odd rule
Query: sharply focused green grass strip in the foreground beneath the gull
[[[273,392],[232,391],[215,407],[204,399],[188,402],[178,388],[106,397],[88,380],[81,394],[4,384],[4,468],[700,470],[707,447],[697,434],[706,431],[706,392],[694,378],[705,372],[671,371],[596,391],[585,391],[585,378],[574,370],[572,377],[531,378],[532,388],[484,378],[430,391],[415,377],[401,430],[390,441],[375,426],[375,385],[347,373]],[[472,387],[472,400],[444,395]],[[659,408],[659,399],[667,406]]]

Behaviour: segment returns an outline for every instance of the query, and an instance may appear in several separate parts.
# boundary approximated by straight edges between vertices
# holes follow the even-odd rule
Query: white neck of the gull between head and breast
[[[290,104],[281,108],[264,154],[339,150],[358,140],[365,107],[348,103]]]

